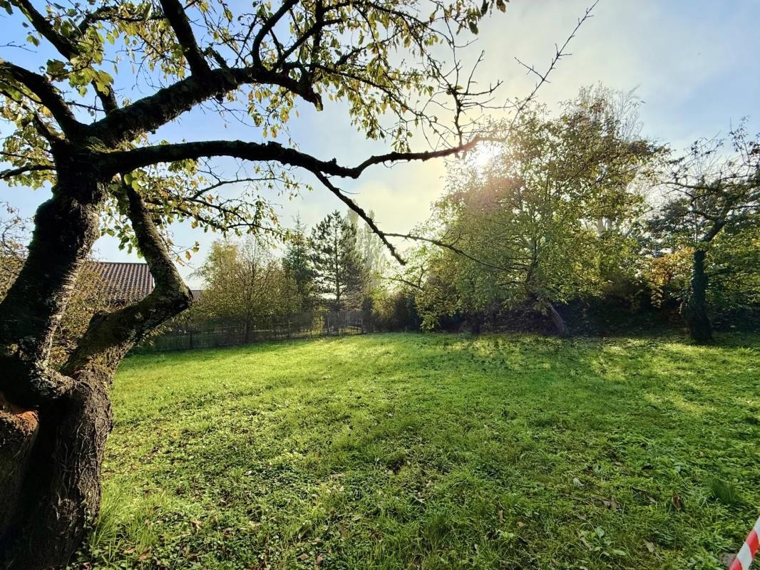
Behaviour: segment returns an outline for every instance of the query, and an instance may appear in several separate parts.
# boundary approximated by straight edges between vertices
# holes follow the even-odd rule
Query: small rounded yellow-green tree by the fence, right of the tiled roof
[[[301,307],[296,282],[254,238],[214,242],[198,273],[207,283],[199,311],[240,322],[243,342],[251,340],[255,325],[271,315],[290,314]]]

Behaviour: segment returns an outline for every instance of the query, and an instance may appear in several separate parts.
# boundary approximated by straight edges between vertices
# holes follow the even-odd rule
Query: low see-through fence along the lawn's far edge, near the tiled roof
[[[136,350],[160,352],[231,347],[265,340],[327,337],[364,332],[364,318],[361,311],[305,312],[297,315],[273,315],[260,318],[249,325],[235,321],[175,324],[169,331],[146,340]]]

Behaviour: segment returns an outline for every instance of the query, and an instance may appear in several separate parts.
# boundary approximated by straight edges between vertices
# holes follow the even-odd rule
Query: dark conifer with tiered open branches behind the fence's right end
[[[366,292],[367,272],[356,243],[356,228],[334,211],[312,229],[312,267],[319,293],[334,310],[356,309]]]

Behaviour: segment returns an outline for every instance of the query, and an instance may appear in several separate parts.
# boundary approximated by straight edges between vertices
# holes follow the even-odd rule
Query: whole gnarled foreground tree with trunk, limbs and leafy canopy
[[[31,30],[22,46],[29,65],[0,60],[0,115],[11,131],[2,147],[10,167],[0,178],[52,187],[36,212],[24,267],[0,304],[0,559],[11,568],[65,565],[97,515],[112,375],[144,334],[191,301],[166,226],[189,219],[223,231],[276,231],[254,189],[294,192],[291,173],[302,169],[378,231],[332,180],[472,147],[464,113],[490,90],[461,87],[459,62],[447,68],[436,54],[454,52],[457,34],[477,32],[492,6],[505,8],[503,0],[282,0],[237,13],[204,0],[37,4],[0,0],[11,14],[6,23]],[[147,89],[137,100],[122,96]],[[426,113],[443,97],[444,110]],[[347,120],[392,150],[344,166],[263,141],[286,127],[296,106],[321,109],[324,100],[344,101]],[[256,140],[154,136],[198,106],[246,122]],[[431,150],[410,150],[415,128]],[[207,163],[213,157],[255,166],[220,179]],[[229,198],[220,192],[227,182],[254,189]],[[156,287],[93,318],[56,368],[52,339],[101,230],[139,250]]]

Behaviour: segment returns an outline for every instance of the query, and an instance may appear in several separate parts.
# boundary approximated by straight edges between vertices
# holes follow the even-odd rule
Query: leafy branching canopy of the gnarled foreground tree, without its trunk
[[[461,115],[477,93],[458,84],[460,65],[445,53],[453,53],[459,33],[477,33],[486,13],[505,11],[505,0],[283,0],[248,7],[0,0],[0,8],[11,27],[27,30],[22,47],[33,52],[24,55],[29,65],[0,62],[0,116],[11,128],[0,156],[12,167],[2,178],[39,187],[57,182],[56,140],[81,135],[94,150],[169,147],[154,131],[198,106],[247,125],[252,141],[284,135],[293,148],[287,128],[299,100],[317,109],[344,104],[362,135],[397,151],[410,150],[420,130],[435,145],[462,141],[470,133]],[[204,147],[181,154],[159,149],[150,159],[119,165],[124,182],[153,204],[160,225],[192,220],[224,233],[280,233],[261,191],[292,195],[298,181],[290,169],[304,164],[261,157],[223,180],[207,157],[255,160],[251,153]],[[318,178],[335,174],[306,168]],[[120,183],[110,188],[104,230],[128,246]],[[230,184],[239,195],[223,192]]]

